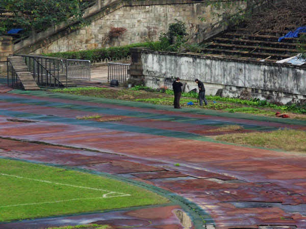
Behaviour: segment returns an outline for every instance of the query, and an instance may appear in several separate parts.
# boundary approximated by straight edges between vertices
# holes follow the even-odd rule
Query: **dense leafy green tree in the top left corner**
[[[0,31],[23,28],[25,35],[46,30],[63,21],[82,21],[91,0],[1,0]]]

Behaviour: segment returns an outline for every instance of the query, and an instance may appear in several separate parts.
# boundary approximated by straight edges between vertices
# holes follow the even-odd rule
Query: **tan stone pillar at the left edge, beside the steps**
[[[12,37],[0,36],[0,73],[7,71],[7,57],[13,54]]]

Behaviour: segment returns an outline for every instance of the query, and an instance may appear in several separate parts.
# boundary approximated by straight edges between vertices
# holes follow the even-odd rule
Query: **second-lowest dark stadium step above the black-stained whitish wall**
[[[223,44],[223,43],[213,43],[210,47],[216,47],[218,49],[230,49],[230,50],[243,50],[243,51],[257,51],[261,53],[278,53],[287,55],[296,55],[296,49],[285,49],[285,48],[271,48],[271,47],[261,47],[261,46],[248,46],[248,45],[236,45],[236,44]]]

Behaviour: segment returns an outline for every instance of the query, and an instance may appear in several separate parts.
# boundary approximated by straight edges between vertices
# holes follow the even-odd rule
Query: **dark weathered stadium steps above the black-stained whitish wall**
[[[250,34],[244,28],[237,28],[213,38],[207,47],[202,48],[202,52],[208,55],[276,62],[298,53],[298,38],[277,41],[287,33],[267,30]]]

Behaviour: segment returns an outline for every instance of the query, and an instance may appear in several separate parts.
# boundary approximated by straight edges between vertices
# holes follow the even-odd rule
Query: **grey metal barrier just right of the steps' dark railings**
[[[63,60],[63,71],[67,69],[67,77],[74,79],[88,79],[90,81],[90,61]]]

